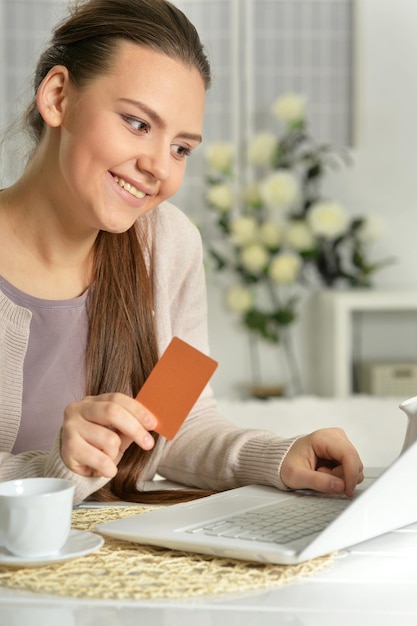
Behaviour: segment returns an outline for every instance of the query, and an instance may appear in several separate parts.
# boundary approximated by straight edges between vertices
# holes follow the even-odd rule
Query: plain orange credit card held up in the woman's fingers
[[[157,433],[174,438],[217,365],[182,339],[171,340],[136,396],[156,417]]]

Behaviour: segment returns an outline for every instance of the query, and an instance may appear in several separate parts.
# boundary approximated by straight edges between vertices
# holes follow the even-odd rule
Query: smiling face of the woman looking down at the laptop
[[[123,232],[179,189],[201,141],[203,80],[194,67],[123,42],[109,73],[82,89],[67,80],[64,91],[47,142],[51,200],[81,228]]]

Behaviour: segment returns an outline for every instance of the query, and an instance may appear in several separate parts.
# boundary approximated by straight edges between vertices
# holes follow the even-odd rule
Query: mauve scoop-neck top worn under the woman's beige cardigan
[[[72,300],[35,298],[0,277],[7,297],[32,313],[23,367],[23,404],[13,454],[50,450],[64,408],[84,394],[87,292]]]

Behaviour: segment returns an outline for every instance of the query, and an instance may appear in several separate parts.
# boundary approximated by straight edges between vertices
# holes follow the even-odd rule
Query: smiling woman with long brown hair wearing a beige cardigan
[[[0,193],[1,480],[70,478],[77,502],[144,500],[156,472],[348,496],[362,480],[339,429],[238,429],[207,388],[168,442],[134,400],[174,335],[208,352],[201,241],[166,200],[209,84],[165,0],[87,0],[54,31],[25,118],[33,151]]]

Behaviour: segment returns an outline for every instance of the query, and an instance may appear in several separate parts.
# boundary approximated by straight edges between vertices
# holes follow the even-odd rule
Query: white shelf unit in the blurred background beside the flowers
[[[354,393],[354,365],[375,355],[381,362],[417,362],[417,291],[323,290],[314,295],[311,313],[318,395]]]

